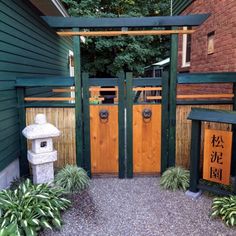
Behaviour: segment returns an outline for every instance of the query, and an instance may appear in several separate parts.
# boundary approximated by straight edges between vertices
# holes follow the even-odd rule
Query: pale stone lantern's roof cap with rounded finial
[[[35,124],[25,127],[22,131],[22,134],[27,139],[57,137],[61,133],[54,125],[47,123],[46,116],[44,114],[37,114],[34,121]]]

